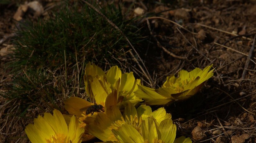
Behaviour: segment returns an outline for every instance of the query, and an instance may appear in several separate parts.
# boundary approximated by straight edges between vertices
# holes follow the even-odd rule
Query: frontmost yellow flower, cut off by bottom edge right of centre
[[[112,132],[120,143],[192,143],[190,138],[183,136],[175,139],[176,125],[172,119],[165,119],[157,125],[153,117],[148,117],[142,122],[140,132],[126,124],[112,129]]]

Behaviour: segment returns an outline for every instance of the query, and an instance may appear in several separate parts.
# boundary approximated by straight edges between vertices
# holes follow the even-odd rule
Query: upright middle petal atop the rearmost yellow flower
[[[107,75],[106,75],[107,82],[109,82],[112,85],[110,87],[113,87],[119,78],[121,79],[121,75],[122,75],[122,72],[118,66],[113,66],[109,69],[109,71],[107,71]]]

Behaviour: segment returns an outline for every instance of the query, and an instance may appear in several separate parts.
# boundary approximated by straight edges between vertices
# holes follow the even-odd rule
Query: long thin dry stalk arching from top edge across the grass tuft
[[[153,86],[153,80],[145,66],[145,64],[143,63],[140,55],[137,53],[137,51],[135,50],[135,48],[132,46],[131,42],[129,41],[129,39],[124,35],[123,31],[121,31],[119,29],[119,27],[117,27],[115,25],[115,23],[113,23],[112,21],[110,21],[103,13],[101,13],[97,8],[95,8],[94,6],[92,6],[89,2],[86,2],[85,0],[81,0],[83,1],[84,3],[86,3],[89,7],[91,7],[93,10],[95,10],[98,14],[100,14],[103,18],[106,19],[107,22],[110,23],[110,25],[112,25],[116,30],[118,30],[123,36],[124,38],[126,39],[126,41],[129,43],[129,45],[132,47],[133,51],[138,55],[138,58],[141,60],[141,63],[143,65],[143,67],[145,68],[145,70],[143,69],[143,67],[140,65],[140,63],[138,62],[138,60],[135,58],[135,56],[133,55],[133,53],[131,51],[129,51],[130,55],[132,56],[133,60],[138,64],[138,66],[140,67],[141,71],[144,73],[144,75],[146,76],[146,78],[149,80],[151,86]]]

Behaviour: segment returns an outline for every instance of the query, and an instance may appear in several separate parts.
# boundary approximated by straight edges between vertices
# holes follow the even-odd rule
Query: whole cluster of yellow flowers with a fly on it
[[[25,133],[32,143],[80,143],[95,137],[106,143],[191,143],[190,138],[176,138],[171,114],[163,107],[152,111],[148,105],[193,96],[213,76],[211,67],[182,70],[178,77],[170,75],[161,88],[153,89],[117,66],[104,72],[88,63],[84,83],[90,102],[70,97],[64,102],[70,115],[56,109],[53,115],[46,112],[27,125]],[[145,104],[139,106],[143,100]]]

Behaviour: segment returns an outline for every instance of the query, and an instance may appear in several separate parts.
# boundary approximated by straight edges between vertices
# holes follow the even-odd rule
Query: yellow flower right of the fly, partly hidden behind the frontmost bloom
[[[119,129],[122,125],[130,125],[136,131],[140,131],[142,123],[147,118],[154,118],[155,124],[159,125],[165,119],[171,119],[171,114],[166,113],[164,108],[152,112],[150,106],[141,105],[137,109],[128,103],[124,109],[124,116],[116,106],[105,108],[105,113],[98,113],[96,117],[88,117],[85,122],[88,133],[102,141],[117,141],[112,129]],[[172,120],[170,120],[172,121]]]

